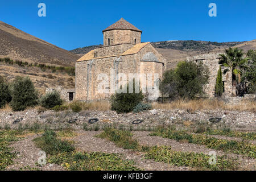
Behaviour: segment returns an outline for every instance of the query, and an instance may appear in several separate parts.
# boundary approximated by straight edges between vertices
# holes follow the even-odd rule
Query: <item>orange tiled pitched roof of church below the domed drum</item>
[[[145,46],[147,46],[147,44],[150,44],[150,42],[145,42],[145,43],[140,43],[140,44],[136,44],[133,47],[131,47],[130,49],[128,49],[127,51],[123,52],[121,55],[110,55],[110,56],[104,56],[104,57],[94,57],[94,50],[86,53],[84,56],[82,56],[79,60],[77,60],[76,62],[80,62],[80,61],[88,61],[88,60],[92,60],[92,59],[102,59],[102,58],[106,58],[106,57],[114,57],[114,56],[125,56],[125,55],[133,55],[135,53],[138,53],[139,51],[141,51],[141,49]]]

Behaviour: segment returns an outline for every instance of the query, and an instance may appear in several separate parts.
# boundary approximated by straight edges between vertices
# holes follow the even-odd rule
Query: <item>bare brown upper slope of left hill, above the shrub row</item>
[[[0,21],[0,57],[71,66],[80,56]]]

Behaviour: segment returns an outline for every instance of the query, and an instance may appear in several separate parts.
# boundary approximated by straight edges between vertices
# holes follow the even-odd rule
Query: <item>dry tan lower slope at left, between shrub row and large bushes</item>
[[[62,86],[63,88],[74,88],[75,77],[69,76],[67,73],[51,73],[46,70],[41,71],[37,67],[19,67],[18,65],[0,64],[0,76],[11,81],[15,76],[29,76],[34,83],[36,89],[40,93],[44,93],[46,88],[56,88]]]

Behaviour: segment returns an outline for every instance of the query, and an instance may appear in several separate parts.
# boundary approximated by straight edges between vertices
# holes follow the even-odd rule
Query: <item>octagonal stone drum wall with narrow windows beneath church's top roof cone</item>
[[[110,30],[103,32],[104,46],[112,46],[115,44],[136,44],[141,43],[141,32],[133,30]],[[110,39],[110,45],[108,45]]]

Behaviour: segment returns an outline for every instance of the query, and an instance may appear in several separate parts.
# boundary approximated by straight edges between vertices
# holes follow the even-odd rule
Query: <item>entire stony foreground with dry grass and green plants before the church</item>
[[[89,104],[79,113],[40,107],[13,112],[5,108],[0,110],[0,138],[9,139],[9,151],[15,155],[2,169],[255,171],[256,115],[255,104],[251,105],[219,103],[214,108],[183,104],[176,105],[183,109],[175,109],[174,105],[154,104],[152,110],[124,114],[109,110],[108,102]],[[98,121],[90,123],[93,118]],[[210,118],[221,120],[212,122]],[[134,122],[137,119],[142,122]],[[70,142],[75,153],[47,154],[46,164],[39,165],[39,151],[47,148],[35,141],[42,139],[47,130],[55,131],[57,139]],[[208,164],[209,152],[217,155],[217,166]],[[73,155],[81,154],[105,157],[101,157],[101,164],[98,158],[73,159]]]

